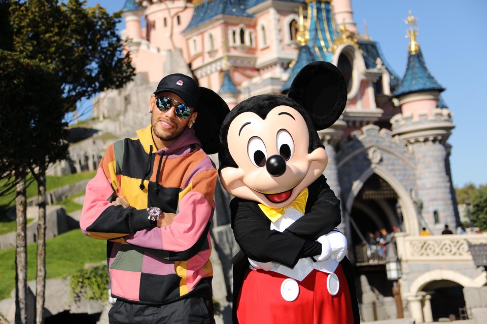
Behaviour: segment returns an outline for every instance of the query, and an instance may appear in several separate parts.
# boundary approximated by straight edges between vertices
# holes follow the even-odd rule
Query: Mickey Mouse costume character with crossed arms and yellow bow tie
[[[305,66],[288,97],[235,106],[220,131],[220,177],[231,201],[234,323],[358,323],[355,279],[336,226],[340,203],[322,175],[317,130],[346,103],[340,70]]]

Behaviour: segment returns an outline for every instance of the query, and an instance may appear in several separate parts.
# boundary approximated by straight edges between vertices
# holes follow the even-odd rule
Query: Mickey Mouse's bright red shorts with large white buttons
[[[296,280],[298,296],[288,302],[281,295],[281,285],[287,276],[272,271],[247,270],[238,296],[238,322],[353,324],[349,286],[341,265],[335,274],[339,280],[336,295],[328,292],[328,273],[313,270],[303,281]]]

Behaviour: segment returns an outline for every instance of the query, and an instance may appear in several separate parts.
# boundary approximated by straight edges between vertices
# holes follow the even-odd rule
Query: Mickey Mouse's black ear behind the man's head
[[[218,153],[220,149],[220,128],[230,109],[227,103],[213,90],[199,87],[198,117],[193,129],[206,154]]]

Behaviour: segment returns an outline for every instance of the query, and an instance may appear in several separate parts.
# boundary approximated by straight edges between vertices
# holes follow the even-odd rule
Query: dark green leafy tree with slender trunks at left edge
[[[44,94],[42,91],[29,90],[27,93],[16,89],[6,94],[23,97],[22,101],[11,98],[11,107],[19,112],[12,115],[13,119],[22,120],[25,115],[23,121],[28,124],[19,128],[18,123],[7,123],[8,117],[5,117],[1,125],[9,129],[17,127],[17,130],[24,131],[18,137],[23,146],[16,147],[7,141],[5,143],[12,156],[3,158],[5,163],[2,162],[2,170],[8,171],[2,175],[15,174],[15,179],[25,179],[26,172],[30,171],[38,182],[40,218],[36,317],[37,322],[42,323],[45,244],[41,240],[44,241],[45,233],[45,173],[52,162],[66,155],[66,133],[62,118],[67,111],[74,110],[76,102],[80,99],[90,98],[107,89],[123,87],[133,78],[134,68],[129,53],[123,54],[121,39],[116,30],[121,17],[120,12],[109,15],[99,5],[84,8],[86,1],[80,0],[0,0],[0,5],[2,14],[10,7],[8,14],[0,17],[0,26],[9,27],[2,36],[5,42],[0,43],[0,48],[21,55],[19,60],[24,60],[25,64],[20,65],[20,69],[26,65],[43,69],[40,78],[35,81],[46,81],[44,88],[52,88],[52,91],[44,89]],[[8,24],[5,20],[8,20]],[[28,68],[22,72],[28,72]],[[9,74],[8,77],[10,79],[5,79],[7,83],[16,80],[17,84],[22,84],[22,89],[29,89],[28,85],[31,82],[28,78],[16,77],[13,74]],[[4,91],[4,88],[2,89]],[[5,110],[5,114],[11,111]],[[25,144],[28,146],[28,153],[22,156],[22,163],[18,163],[15,158]],[[25,180],[11,182],[12,186],[18,187],[19,184],[25,187]],[[23,210],[19,209],[19,206],[25,206],[25,190],[17,190],[16,204],[17,215],[25,215],[25,207]],[[23,230],[25,236],[25,226]],[[22,306],[18,308],[24,311]],[[19,322],[24,322],[24,317],[23,313],[20,314]]]

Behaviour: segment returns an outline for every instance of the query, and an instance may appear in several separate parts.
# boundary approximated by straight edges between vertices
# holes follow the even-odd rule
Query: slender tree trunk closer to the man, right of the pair
[[[37,280],[36,280],[36,323],[44,323],[44,302],[46,289],[46,172],[37,177],[39,220],[37,225]]]

